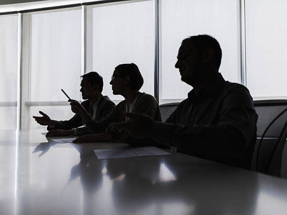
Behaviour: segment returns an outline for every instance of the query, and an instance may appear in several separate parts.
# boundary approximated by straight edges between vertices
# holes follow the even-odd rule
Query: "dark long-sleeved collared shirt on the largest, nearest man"
[[[220,73],[152,129],[155,140],[179,152],[250,168],[256,140],[257,114],[243,85],[225,81]]]

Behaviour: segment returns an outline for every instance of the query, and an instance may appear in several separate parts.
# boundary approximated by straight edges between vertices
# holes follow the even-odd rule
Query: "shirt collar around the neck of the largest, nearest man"
[[[218,89],[222,86],[225,82],[224,78],[222,77],[221,73],[217,73],[212,81],[207,83],[202,89],[199,91],[198,95],[201,97],[203,95],[214,95]],[[188,94],[189,99],[194,99],[196,97],[194,89],[192,89]]]

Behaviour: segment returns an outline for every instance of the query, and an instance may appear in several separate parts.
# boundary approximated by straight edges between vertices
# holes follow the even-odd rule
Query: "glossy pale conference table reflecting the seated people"
[[[98,159],[124,143],[0,131],[0,214],[287,214],[287,180],[175,153]],[[67,137],[66,137],[67,138]]]

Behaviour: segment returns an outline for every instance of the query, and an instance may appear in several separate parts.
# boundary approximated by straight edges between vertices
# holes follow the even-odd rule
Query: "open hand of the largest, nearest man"
[[[152,127],[154,126],[154,120],[143,114],[133,114],[133,113],[124,113],[129,121],[111,123],[109,125],[109,130],[125,130],[132,136],[137,138],[149,138],[152,135]]]

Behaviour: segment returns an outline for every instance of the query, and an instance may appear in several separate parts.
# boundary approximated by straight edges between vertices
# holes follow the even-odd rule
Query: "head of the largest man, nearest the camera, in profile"
[[[175,67],[182,81],[193,84],[209,72],[218,72],[221,57],[222,51],[215,38],[206,34],[191,36],[182,41]]]

